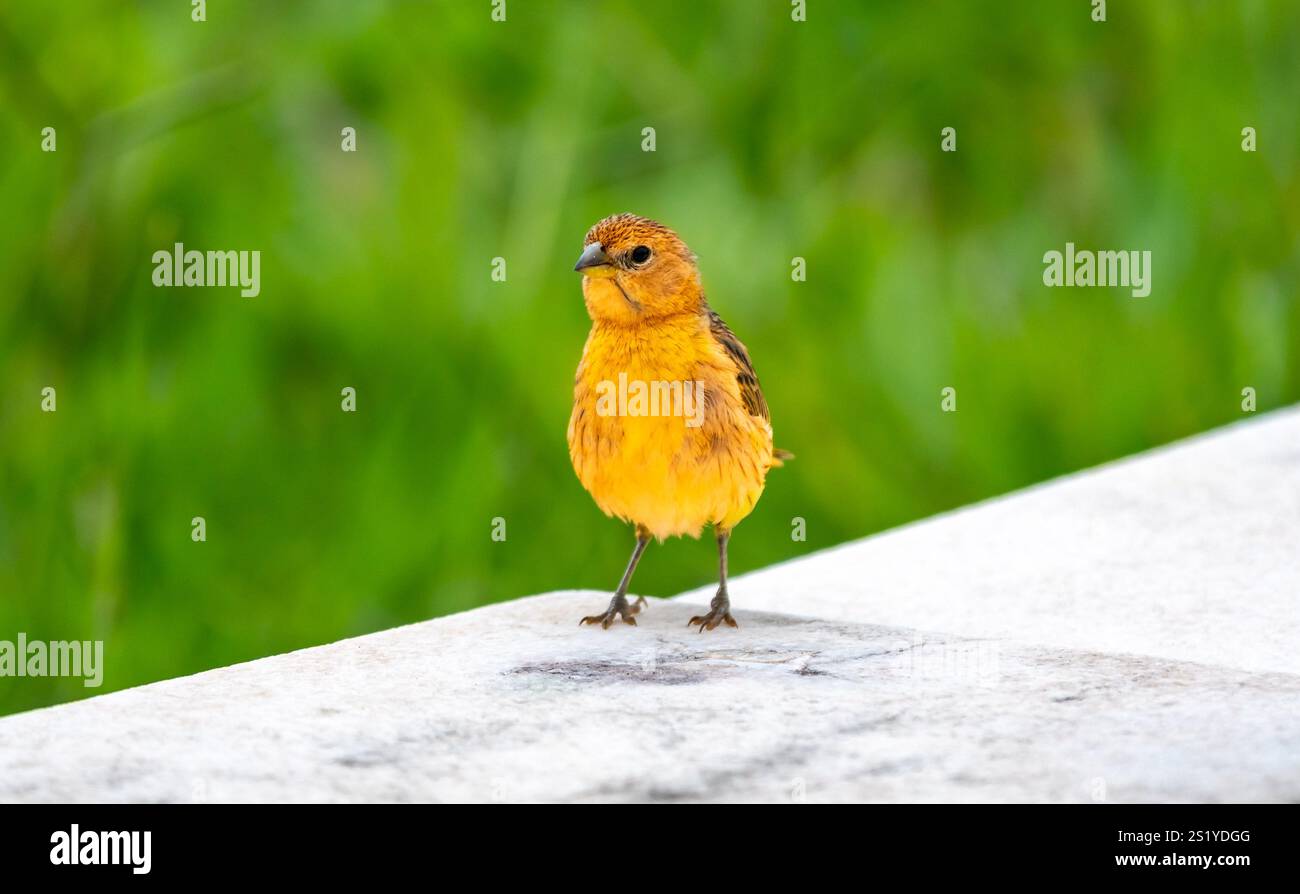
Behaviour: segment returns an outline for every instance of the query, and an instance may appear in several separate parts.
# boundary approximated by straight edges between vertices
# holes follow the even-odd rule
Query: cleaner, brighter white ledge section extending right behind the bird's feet
[[[742,608],[1300,673],[1300,411],[737,577],[732,589]]]

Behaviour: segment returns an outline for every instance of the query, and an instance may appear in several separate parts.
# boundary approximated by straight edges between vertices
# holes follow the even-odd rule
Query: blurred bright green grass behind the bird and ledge
[[[564,430],[618,211],[697,251],[798,453],[736,572],[1300,399],[1300,6],[809,5],[0,9],[0,639],[104,639],[107,691],[612,587]],[[261,295],[155,288],[178,240]],[[1067,240],[1150,249],[1150,298],[1043,287]],[[634,590],[712,576],[672,542]]]

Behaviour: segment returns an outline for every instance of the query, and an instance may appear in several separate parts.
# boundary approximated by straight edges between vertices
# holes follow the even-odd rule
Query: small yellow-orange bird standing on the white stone
[[[603,615],[628,606],[628,585],[650,538],[718,535],[718,595],[699,630],[736,626],[727,594],[727,543],[763,492],[767,470],[792,455],[772,448],[767,402],[749,352],[705,300],[696,256],[677,234],[636,214],[590,230],[575,270],[592,331],[573,382],[569,457],[608,516],[636,525],[637,544]]]

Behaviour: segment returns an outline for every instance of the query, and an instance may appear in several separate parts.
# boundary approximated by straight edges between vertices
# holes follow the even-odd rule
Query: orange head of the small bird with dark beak
[[[586,231],[582,298],[592,320],[634,325],[676,313],[698,313],[703,303],[696,256],[658,221],[615,214]]]

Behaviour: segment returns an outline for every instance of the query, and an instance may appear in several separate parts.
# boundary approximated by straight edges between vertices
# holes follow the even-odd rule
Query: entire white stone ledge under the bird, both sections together
[[[1297,800],[1300,413],[734,580],[0,719],[0,800]]]

